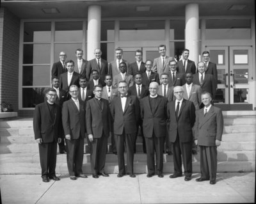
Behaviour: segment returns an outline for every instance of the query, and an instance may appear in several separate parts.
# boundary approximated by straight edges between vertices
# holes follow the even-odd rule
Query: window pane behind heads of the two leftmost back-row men
[[[59,54],[60,52],[65,52],[67,54],[67,60],[72,59],[73,61],[76,61],[76,49],[82,49],[82,43],[61,43],[61,44],[55,44],[54,49],[54,61],[60,61]],[[86,59],[86,56],[84,54],[84,59]]]

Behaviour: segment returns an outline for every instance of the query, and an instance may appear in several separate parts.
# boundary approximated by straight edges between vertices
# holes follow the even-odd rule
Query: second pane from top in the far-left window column
[[[47,64],[51,57],[50,44],[29,44],[23,47],[24,64]]]

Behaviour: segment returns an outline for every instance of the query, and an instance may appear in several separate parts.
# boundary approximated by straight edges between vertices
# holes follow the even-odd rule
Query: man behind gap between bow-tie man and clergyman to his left
[[[105,83],[106,83],[106,86],[103,87],[102,98],[108,100],[109,105],[110,105],[112,100],[118,96],[118,88],[116,88],[115,86],[112,86],[111,75],[105,76]],[[117,154],[115,135],[113,132],[111,132],[111,149],[112,149],[113,153]]]

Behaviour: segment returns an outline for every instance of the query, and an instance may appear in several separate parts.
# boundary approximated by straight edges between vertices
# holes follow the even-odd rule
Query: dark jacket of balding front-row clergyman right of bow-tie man
[[[152,137],[153,131],[156,137],[166,136],[167,99],[158,95],[156,109],[152,111],[149,98],[142,98],[140,101],[141,118],[143,120],[143,134],[145,137]]]

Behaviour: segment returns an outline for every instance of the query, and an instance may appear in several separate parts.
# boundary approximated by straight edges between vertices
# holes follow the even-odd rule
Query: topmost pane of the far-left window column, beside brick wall
[[[51,42],[51,22],[25,22],[24,42]]]

